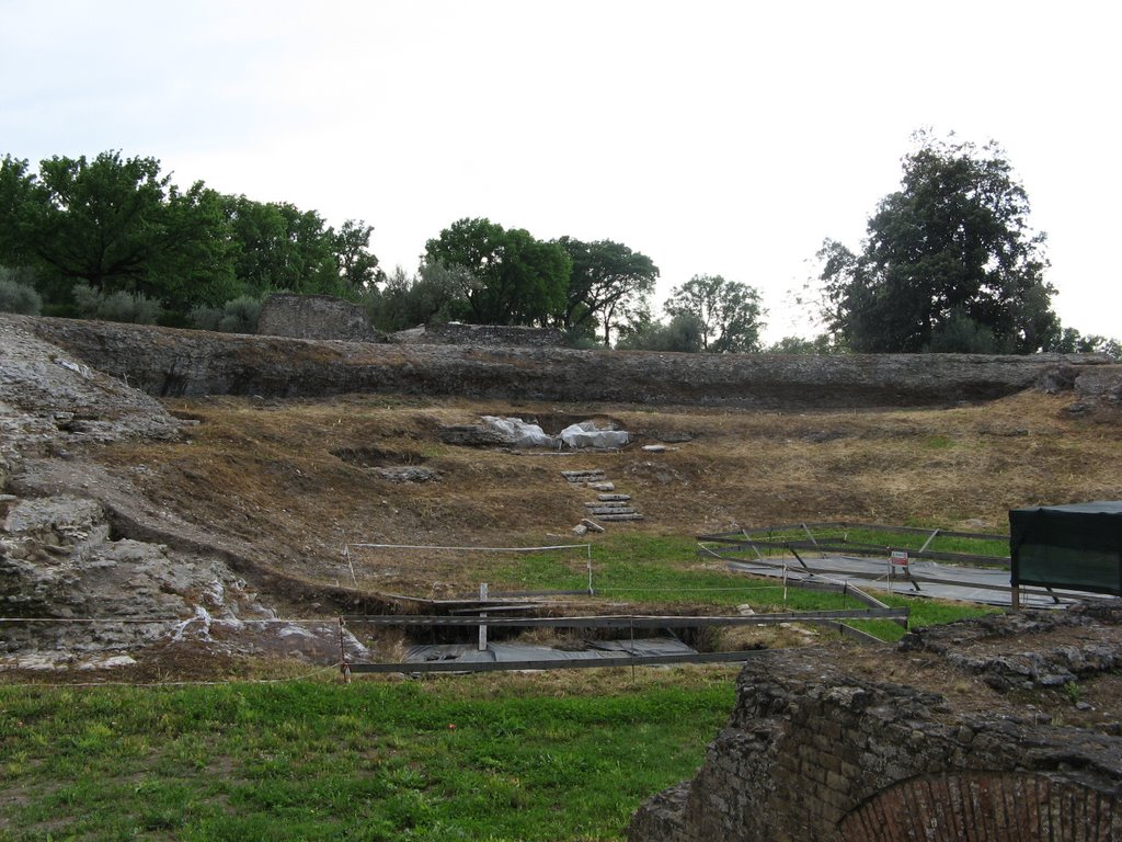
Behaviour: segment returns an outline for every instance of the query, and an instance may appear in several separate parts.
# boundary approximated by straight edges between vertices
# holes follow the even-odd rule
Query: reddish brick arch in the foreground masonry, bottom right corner
[[[839,842],[1122,841],[1119,795],[1046,775],[925,775],[882,789],[839,823]]]

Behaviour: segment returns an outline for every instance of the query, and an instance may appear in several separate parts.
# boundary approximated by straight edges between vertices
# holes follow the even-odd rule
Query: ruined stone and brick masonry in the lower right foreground
[[[949,690],[965,680],[955,678],[956,653],[976,675],[987,669],[983,650],[1031,651],[1034,666],[1012,683],[1003,670],[993,685],[1027,694],[1063,670],[1069,679],[1113,670],[1116,658],[1098,656],[1118,651],[1120,620],[1112,607],[957,623],[909,635],[884,652],[879,674],[894,665],[907,674],[922,652],[911,663],[944,659]],[[1031,696],[956,703],[858,672],[837,650],[767,652],[737,689],[702,769],[640,808],[632,842],[1122,839],[1116,721],[1067,726]]]

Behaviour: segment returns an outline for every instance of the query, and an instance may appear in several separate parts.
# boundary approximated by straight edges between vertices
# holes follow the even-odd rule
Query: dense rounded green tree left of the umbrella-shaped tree
[[[572,262],[555,242],[488,219],[460,219],[425,244],[425,264],[466,269],[456,314],[477,324],[542,324],[564,309]]]

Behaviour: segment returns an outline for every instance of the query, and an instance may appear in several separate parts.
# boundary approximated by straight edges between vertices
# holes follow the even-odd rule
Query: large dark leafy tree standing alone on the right
[[[1004,152],[918,135],[861,254],[826,240],[824,318],[857,351],[1032,353],[1055,339],[1045,236]]]

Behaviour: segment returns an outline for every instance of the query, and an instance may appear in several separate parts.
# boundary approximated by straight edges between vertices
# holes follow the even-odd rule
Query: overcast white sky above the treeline
[[[0,0],[0,154],[121,149],[375,226],[389,271],[462,217],[756,286],[766,337],[857,248],[911,134],[1001,143],[1065,326],[1122,336],[1122,7],[1110,2]]]

